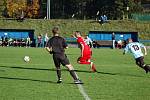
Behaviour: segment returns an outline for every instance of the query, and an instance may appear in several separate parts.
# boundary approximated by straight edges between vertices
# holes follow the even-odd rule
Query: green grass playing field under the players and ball
[[[93,49],[98,73],[90,73],[88,65],[76,63],[78,48],[66,53],[91,100],[150,100],[150,74],[137,67],[130,54]],[[23,61],[25,55],[31,62]],[[150,50],[145,57],[149,61]],[[0,47],[0,100],[84,100],[68,71],[62,69],[63,83],[56,84],[52,57],[44,48]]]

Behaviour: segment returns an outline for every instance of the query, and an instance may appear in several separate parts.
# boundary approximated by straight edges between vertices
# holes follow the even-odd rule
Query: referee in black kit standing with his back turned
[[[82,84],[81,80],[79,80],[77,74],[74,71],[73,66],[70,64],[69,59],[67,58],[65,54],[65,50],[67,49],[67,44],[64,38],[59,36],[59,28],[54,27],[52,29],[53,37],[49,39],[46,50],[50,52],[50,54],[53,54],[53,60],[57,71],[57,77],[58,81],[57,83],[62,82],[61,78],[61,68],[60,65],[66,66],[71,74],[71,76],[74,79],[75,84]]]

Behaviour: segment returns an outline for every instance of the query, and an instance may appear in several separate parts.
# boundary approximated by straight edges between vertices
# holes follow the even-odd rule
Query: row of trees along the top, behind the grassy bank
[[[0,11],[6,18],[44,18],[47,0],[1,0]],[[141,0],[50,0],[53,19],[93,19],[104,14],[109,19],[122,19],[124,15],[141,12]]]

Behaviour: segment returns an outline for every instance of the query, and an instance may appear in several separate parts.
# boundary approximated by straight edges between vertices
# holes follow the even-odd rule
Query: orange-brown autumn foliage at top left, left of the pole
[[[33,4],[28,5],[26,0],[12,1],[7,0],[7,14],[8,17],[18,18],[18,17],[27,17],[27,18],[37,18],[39,16],[39,0],[34,0]]]

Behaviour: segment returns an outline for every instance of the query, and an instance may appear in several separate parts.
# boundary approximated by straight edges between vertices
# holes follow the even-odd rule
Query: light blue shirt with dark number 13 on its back
[[[144,45],[138,42],[132,42],[129,43],[126,47],[125,47],[125,53],[127,53],[128,51],[131,52],[134,56],[134,58],[139,58],[141,56],[144,56],[142,53],[141,48],[143,48]]]

